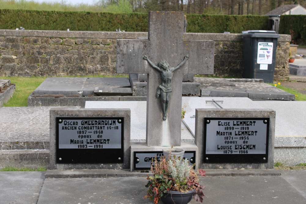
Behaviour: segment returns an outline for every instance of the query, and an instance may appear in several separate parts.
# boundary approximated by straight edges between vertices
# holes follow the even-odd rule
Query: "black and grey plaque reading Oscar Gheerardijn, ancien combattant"
[[[56,117],[57,163],[123,163],[123,117]]]

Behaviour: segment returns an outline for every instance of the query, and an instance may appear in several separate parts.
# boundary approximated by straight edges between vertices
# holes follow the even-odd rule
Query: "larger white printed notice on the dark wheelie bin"
[[[258,43],[257,64],[272,64],[273,43]]]

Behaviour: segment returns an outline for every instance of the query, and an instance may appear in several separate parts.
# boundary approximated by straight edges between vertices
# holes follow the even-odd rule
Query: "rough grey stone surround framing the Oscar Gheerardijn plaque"
[[[56,163],[56,117],[124,117],[124,158],[123,163],[97,164],[58,164]],[[129,169],[130,140],[131,140],[131,111],[130,109],[79,109],[52,108],[50,109],[50,164],[48,169]],[[103,155],[102,155],[103,156]],[[107,155],[104,155],[107,156]]]

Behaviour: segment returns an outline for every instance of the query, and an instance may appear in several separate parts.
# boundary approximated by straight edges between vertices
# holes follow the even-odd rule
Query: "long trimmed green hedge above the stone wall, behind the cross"
[[[267,16],[187,14],[187,32],[267,30]],[[0,9],[0,29],[147,32],[147,13],[95,13]]]

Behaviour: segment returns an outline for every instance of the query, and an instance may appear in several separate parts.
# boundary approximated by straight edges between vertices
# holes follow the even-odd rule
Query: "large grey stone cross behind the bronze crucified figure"
[[[214,44],[211,40],[185,40],[184,12],[170,11],[149,12],[148,40],[117,40],[117,73],[148,74],[147,146],[181,145],[183,74],[213,74]],[[176,67],[189,56],[173,73],[166,120],[163,120],[161,100],[156,96],[162,83],[161,74],[144,60],[144,55],[156,66],[165,60],[170,67]]]

